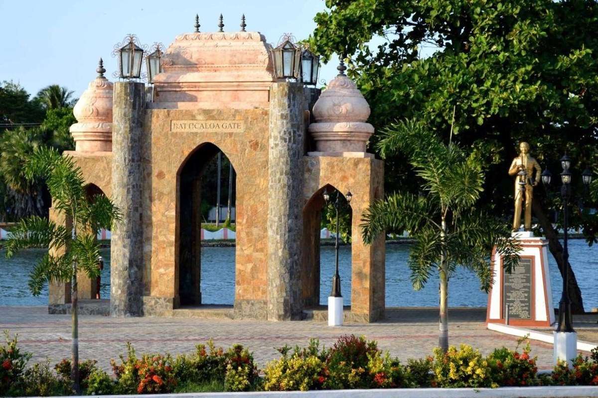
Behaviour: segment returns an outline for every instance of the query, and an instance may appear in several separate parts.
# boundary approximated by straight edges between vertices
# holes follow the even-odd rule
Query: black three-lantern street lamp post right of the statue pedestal
[[[557,332],[572,333],[573,330],[573,318],[571,315],[571,301],[569,300],[569,199],[571,197],[571,172],[569,168],[571,166],[571,159],[565,155],[560,159],[563,172],[560,174],[561,183],[561,198],[563,199],[563,262],[565,263],[565,269],[563,270],[563,292],[561,300],[559,302],[559,325],[557,326]],[[542,173],[542,183],[548,186],[550,184],[552,174],[550,171],[545,170]],[[592,173],[589,169],[585,169],[582,173],[582,181],[587,187],[592,181]]]

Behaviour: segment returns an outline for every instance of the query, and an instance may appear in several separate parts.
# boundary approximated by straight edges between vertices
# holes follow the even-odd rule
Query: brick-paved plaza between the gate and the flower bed
[[[484,326],[485,308],[454,308],[449,311],[450,344],[471,344],[488,354],[495,347],[514,348],[517,339]],[[327,346],[343,334],[365,335],[378,341],[401,360],[424,357],[438,343],[436,308],[395,308],[383,322],[349,324],[329,328],[324,322],[264,322],[254,320],[169,317],[114,318],[80,316],[80,357],[97,359],[109,369],[111,358],[125,353],[127,341],[137,353],[189,353],[198,343],[213,338],[216,345],[240,343],[253,351],[260,366],[279,356],[274,347],[305,345],[318,338]],[[53,363],[69,357],[71,316],[49,315],[47,307],[0,307],[0,329],[19,334],[20,346],[34,353],[33,360]],[[551,368],[552,345],[531,341],[532,354],[541,369]]]

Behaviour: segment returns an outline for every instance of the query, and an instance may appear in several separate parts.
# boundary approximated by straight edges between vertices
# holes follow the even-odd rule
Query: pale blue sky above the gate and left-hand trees
[[[19,82],[35,95],[49,84],[60,84],[79,97],[96,76],[100,57],[112,78],[117,61],[112,48],[127,33],[144,44],[166,47],[176,35],[193,32],[199,14],[202,32],[239,30],[245,13],[247,30],[258,30],[276,45],[283,33],[306,38],[313,17],[325,10],[324,0],[0,0],[0,81]],[[337,59],[322,66],[320,79],[336,75]]]

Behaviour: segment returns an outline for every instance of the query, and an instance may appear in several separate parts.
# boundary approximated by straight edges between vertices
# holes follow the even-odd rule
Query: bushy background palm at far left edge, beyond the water
[[[13,218],[45,215],[42,183],[25,175],[27,159],[43,141],[39,129],[23,127],[6,130],[0,138],[0,177],[7,187],[5,205]]]

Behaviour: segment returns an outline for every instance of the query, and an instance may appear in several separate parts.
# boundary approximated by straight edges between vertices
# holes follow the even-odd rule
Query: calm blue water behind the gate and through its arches
[[[422,290],[411,288],[410,270],[407,266],[409,245],[386,246],[386,305],[392,306],[437,306],[438,277],[433,276]],[[11,260],[6,260],[0,251],[0,305],[30,306],[45,305],[48,291],[44,289],[39,297],[32,297],[27,287],[28,274],[35,261],[44,254],[43,249],[27,250]],[[110,294],[110,251],[101,252],[105,260],[102,271],[102,298]],[[562,280],[556,263],[550,253],[550,278],[553,286],[554,305],[560,300]],[[344,301],[350,303],[350,259],[349,246],[340,248],[341,289]],[[598,248],[588,247],[584,240],[570,241],[570,261],[575,270],[579,288],[584,297],[586,310],[598,307]],[[327,302],[334,273],[334,247],[321,248],[321,297]],[[206,304],[232,304],[234,298],[234,248],[202,248],[202,296]],[[480,291],[477,277],[467,270],[459,269],[449,284],[450,306],[484,307],[487,295]]]

